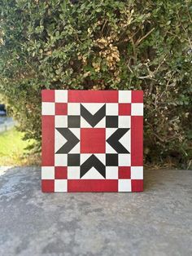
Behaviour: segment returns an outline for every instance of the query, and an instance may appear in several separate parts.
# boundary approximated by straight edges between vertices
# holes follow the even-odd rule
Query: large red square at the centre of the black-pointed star
[[[105,128],[81,128],[81,153],[105,153]]]

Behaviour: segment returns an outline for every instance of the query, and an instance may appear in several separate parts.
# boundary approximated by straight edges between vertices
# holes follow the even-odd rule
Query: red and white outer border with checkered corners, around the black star
[[[42,192],[142,192],[142,90],[42,90],[41,96]],[[130,164],[107,167],[106,179],[77,179],[78,167],[55,164],[55,122],[64,125],[68,114],[79,114],[78,104],[90,103],[110,104],[108,115],[130,118]]]

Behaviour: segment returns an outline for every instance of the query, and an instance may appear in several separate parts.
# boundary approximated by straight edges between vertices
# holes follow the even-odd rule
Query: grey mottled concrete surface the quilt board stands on
[[[0,255],[192,255],[192,171],[146,170],[142,193],[41,193],[40,168],[0,176]]]

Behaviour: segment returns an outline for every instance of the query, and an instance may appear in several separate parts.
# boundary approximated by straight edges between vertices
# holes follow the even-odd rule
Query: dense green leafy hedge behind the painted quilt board
[[[142,89],[146,163],[190,167],[190,0],[0,0],[0,9],[0,92],[37,148],[41,89]]]

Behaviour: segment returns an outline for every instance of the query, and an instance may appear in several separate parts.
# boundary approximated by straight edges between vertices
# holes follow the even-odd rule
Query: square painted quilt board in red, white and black
[[[142,192],[142,90],[42,90],[42,192]]]

